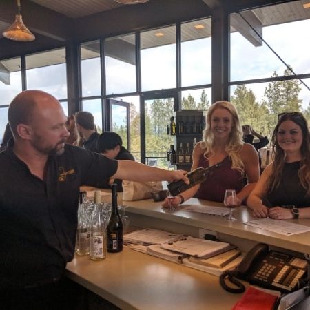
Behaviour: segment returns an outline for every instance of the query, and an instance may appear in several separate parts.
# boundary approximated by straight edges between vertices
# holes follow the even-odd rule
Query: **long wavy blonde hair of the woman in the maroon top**
[[[227,152],[229,158],[231,159],[231,168],[237,169],[243,174],[245,172],[245,165],[240,156],[240,151],[243,145],[242,127],[240,125],[236,107],[228,101],[216,101],[216,103],[211,105],[207,112],[207,121],[205,130],[203,130],[203,141],[201,142],[201,147],[205,150],[203,152],[203,156],[207,159],[214,156],[214,134],[211,130],[211,116],[217,109],[225,109],[232,116],[232,127],[227,145],[225,147],[225,152]]]

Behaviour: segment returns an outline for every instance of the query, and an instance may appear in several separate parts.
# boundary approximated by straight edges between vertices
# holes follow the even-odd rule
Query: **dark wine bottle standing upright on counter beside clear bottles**
[[[117,208],[117,185],[112,184],[112,209],[107,223],[107,251],[120,252],[123,250],[123,223]]]

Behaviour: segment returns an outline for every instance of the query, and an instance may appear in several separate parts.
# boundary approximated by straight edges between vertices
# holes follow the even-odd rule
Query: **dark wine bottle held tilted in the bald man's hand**
[[[189,184],[186,184],[183,180],[169,183],[169,192],[172,194],[172,196],[177,196],[178,194],[186,191],[187,189],[207,180],[207,178],[211,176],[211,174],[213,174],[214,169],[220,167],[221,165],[221,163],[217,163],[216,165],[207,168],[199,167],[197,169],[194,169],[186,175],[187,178],[189,178]]]

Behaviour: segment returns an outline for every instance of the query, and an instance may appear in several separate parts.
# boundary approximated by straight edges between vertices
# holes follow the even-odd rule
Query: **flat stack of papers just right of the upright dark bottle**
[[[168,231],[146,228],[125,234],[124,241],[136,245],[159,245],[161,243],[174,242],[184,238],[182,234],[173,234]]]

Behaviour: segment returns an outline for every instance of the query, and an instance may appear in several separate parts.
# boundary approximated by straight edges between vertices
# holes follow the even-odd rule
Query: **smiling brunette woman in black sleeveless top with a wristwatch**
[[[258,218],[310,218],[310,147],[299,112],[279,114],[271,145],[273,162],[262,173],[247,205]]]

